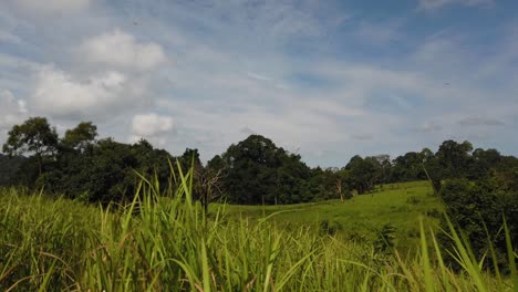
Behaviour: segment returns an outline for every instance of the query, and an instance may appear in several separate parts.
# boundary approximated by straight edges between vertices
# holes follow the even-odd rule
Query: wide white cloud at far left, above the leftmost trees
[[[114,71],[81,82],[54,66],[43,66],[30,105],[54,116],[82,116],[123,102],[125,86],[126,76]]]

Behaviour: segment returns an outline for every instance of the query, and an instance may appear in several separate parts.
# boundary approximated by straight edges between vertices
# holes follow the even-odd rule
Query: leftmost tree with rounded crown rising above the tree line
[[[34,154],[39,175],[43,171],[43,157],[56,150],[58,134],[45,117],[30,117],[21,125],[14,125],[2,150],[10,156]]]

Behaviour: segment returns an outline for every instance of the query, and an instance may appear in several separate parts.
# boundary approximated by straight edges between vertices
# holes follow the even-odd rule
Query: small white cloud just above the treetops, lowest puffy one
[[[170,133],[174,129],[173,118],[155,113],[135,115],[132,121],[132,134],[149,138]]]

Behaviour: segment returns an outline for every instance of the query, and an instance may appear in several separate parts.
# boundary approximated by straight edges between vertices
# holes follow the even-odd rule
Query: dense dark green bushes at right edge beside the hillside
[[[465,178],[448,180],[441,190],[446,213],[462,227],[478,259],[485,267],[506,267],[507,242],[503,229],[507,222],[511,242],[518,242],[518,168],[493,177],[469,181]],[[443,228],[447,228],[443,221]],[[454,244],[448,237],[439,237],[444,247]],[[489,243],[490,242],[490,243]],[[515,252],[518,247],[515,246]],[[455,262],[454,259],[449,259]]]

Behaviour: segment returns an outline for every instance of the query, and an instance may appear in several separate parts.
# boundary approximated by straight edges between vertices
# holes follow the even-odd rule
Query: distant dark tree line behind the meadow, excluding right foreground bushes
[[[195,168],[195,197],[246,205],[298,204],[348,199],[372,192],[384,184],[429,179],[438,191],[445,179],[477,180],[506,176],[518,159],[496,149],[474,149],[469,142],[445,140],[436,153],[428,148],[395,159],[388,155],[354,156],[341,168],[309,167],[299,154],[261,135],[232,144],[206,165],[197,149],[180,156],[153,147],[147,140],[124,144],[99,138],[92,122],[82,122],[59,137],[45,117],[14,125],[0,156],[0,185],[45,188],[52,194],[92,202],[132,199],[144,176],[160,186],[173,181],[169,161]],[[173,168],[174,169],[174,168]],[[178,170],[176,170],[178,171]]]

